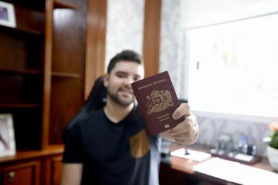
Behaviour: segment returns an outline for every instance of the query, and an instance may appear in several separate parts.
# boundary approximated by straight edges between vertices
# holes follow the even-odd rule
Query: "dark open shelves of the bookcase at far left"
[[[14,10],[16,28],[0,25],[0,113],[13,116],[16,149],[39,149],[45,13],[16,3]]]

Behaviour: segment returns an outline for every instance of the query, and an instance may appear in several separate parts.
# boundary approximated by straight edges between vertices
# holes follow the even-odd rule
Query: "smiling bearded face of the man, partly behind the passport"
[[[108,88],[108,96],[120,106],[126,107],[134,102],[134,92],[131,83],[142,79],[144,69],[141,64],[121,60],[104,78],[104,86]]]

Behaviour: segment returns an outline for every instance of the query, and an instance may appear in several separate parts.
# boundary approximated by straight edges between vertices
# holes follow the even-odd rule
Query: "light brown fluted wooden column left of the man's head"
[[[88,0],[85,99],[95,79],[105,73],[106,14],[107,0]]]

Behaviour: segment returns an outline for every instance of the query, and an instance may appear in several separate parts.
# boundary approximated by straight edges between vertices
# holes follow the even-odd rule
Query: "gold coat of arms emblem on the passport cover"
[[[174,106],[172,96],[168,90],[153,90],[146,98],[149,99],[146,105],[148,108],[147,114],[161,112],[168,107]]]

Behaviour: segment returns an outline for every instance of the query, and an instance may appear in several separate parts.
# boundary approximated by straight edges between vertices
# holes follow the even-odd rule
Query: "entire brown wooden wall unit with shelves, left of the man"
[[[62,131],[94,82],[86,76],[88,61],[94,67],[87,45],[91,55],[102,55],[95,63],[104,62],[105,37],[94,29],[98,40],[88,41],[87,16],[98,21],[106,1],[2,1],[14,5],[16,17],[16,27],[0,25],[0,114],[12,114],[16,156],[0,158],[0,184],[60,184]],[[92,27],[105,30],[105,23]]]

